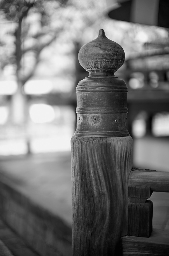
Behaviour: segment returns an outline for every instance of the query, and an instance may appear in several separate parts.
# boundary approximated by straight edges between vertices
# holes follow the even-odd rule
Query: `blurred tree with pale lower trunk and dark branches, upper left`
[[[53,22],[53,16],[67,0],[1,0],[1,21],[6,21],[7,34],[15,47],[1,51],[3,69],[12,65],[15,70],[18,89],[12,96],[12,121],[21,124],[26,118],[26,96],[22,87],[34,75],[42,50],[50,45],[62,30],[61,22]],[[0,46],[9,42],[2,38]]]

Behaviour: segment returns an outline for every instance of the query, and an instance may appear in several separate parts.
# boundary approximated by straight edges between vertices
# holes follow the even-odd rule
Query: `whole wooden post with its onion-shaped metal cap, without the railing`
[[[103,29],[79,51],[89,76],[76,89],[71,139],[72,256],[119,256],[120,237],[127,235],[133,143],[126,127],[127,87],[114,76],[124,58]]]

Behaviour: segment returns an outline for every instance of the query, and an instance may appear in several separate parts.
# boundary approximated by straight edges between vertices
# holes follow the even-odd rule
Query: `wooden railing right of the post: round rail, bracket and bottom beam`
[[[153,191],[169,192],[169,172],[132,168],[128,180],[128,236],[121,237],[123,256],[169,255],[169,231],[152,228]]]

